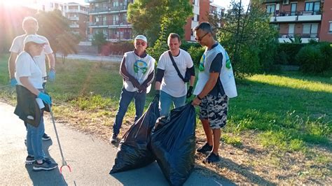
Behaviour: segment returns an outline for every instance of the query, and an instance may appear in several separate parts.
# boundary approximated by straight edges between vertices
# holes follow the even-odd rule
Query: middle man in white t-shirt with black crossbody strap
[[[157,75],[155,78],[155,94],[160,96],[159,109],[160,116],[167,116],[170,113],[170,106],[173,102],[174,108],[184,106],[186,97],[193,94],[193,84],[195,83],[195,68],[191,55],[180,48],[181,39],[179,34],[171,33],[167,38],[169,51],[162,53],[157,66]],[[186,83],[180,78],[177,70],[172,64],[171,56],[174,59],[182,78],[186,71],[191,72],[190,87],[187,91]]]

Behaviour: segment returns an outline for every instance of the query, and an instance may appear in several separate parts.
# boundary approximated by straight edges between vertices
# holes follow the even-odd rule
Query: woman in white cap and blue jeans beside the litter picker
[[[28,35],[24,41],[24,50],[16,59],[18,106],[15,108],[15,114],[27,122],[28,156],[25,163],[34,164],[34,171],[49,171],[57,168],[57,164],[45,157],[41,139],[45,130],[43,109],[52,101],[50,96],[43,93],[42,73],[34,57],[41,55],[45,44],[46,42],[38,36]]]

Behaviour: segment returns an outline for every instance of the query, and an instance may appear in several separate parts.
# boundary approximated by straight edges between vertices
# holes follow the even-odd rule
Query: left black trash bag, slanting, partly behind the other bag
[[[148,106],[148,110],[125,133],[109,173],[137,169],[155,161],[153,153],[148,149],[148,144],[151,141],[151,130],[160,116],[158,101],[155,97]]]

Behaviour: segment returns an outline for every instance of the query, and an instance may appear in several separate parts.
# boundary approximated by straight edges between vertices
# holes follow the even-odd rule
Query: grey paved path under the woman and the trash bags
[[[109,175],[116,148],[90,135],[57,124],[64,157],[71,166],[53,171],[32,171],[25,166],[25,127],[13,114],[14,107],[0,102],[0,185],[168,185],[158,164]],[[48,157],[62,165],[53,124],[46,117],[46,131],[53,141],[44,141]],[[194,171],[184,185],[233,185],[228,180],[202,176]]]

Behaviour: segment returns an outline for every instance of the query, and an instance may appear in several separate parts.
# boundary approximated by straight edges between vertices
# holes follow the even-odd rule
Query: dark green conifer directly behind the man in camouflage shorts
[[[236,76],[268,70],[277,52],[277,29],[270,25],[270,15],[261,8],[259,0],[251,0],[244,10],[242,0],[230,3],[218,29],[218,40],[232,60]]]

